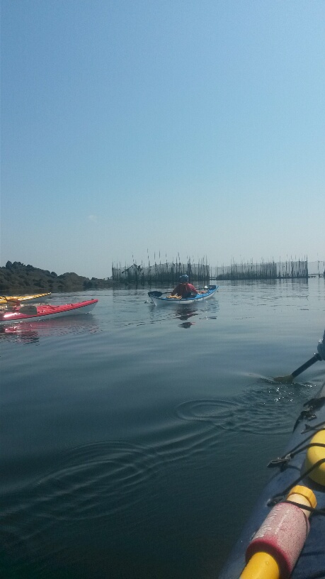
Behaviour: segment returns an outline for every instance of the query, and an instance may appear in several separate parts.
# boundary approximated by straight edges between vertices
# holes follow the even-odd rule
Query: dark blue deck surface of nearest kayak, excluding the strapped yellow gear
[[[271,461],[268,467],[275,473],[270,478],[256,503],[253,513],[241,533],[239,541],[219,575],[219,579],[238,579],[244,570],[246,548],[253,536],[265,521],[275,504],[280,504],[287,497],[288,492],[297,485],[303,485],[312,490],[317,499],[317,509],[309,519],[310,531],[304,543],[295,567],[290,575],[291,579],[314,579],[325,577],[325,486],[320,485],[304,474],[307,448],[316,433],[325,429],[325,383],[317,397],[304,404],[304,408],[297,418],[290,442],[280,458]],[[318,434],[317,434],[318,436]],[[321,446],[321,445],[319,445]],[[314,448],[314,443],[312,443]],[[312,448],[310,447],[310,448]],[[324,451],[323,451],[324,452]],[[317,512],[321,511],[322,512]],[[290,534],[290,529],[288,530]],[[292,535],[295,530],[291,529]]]

